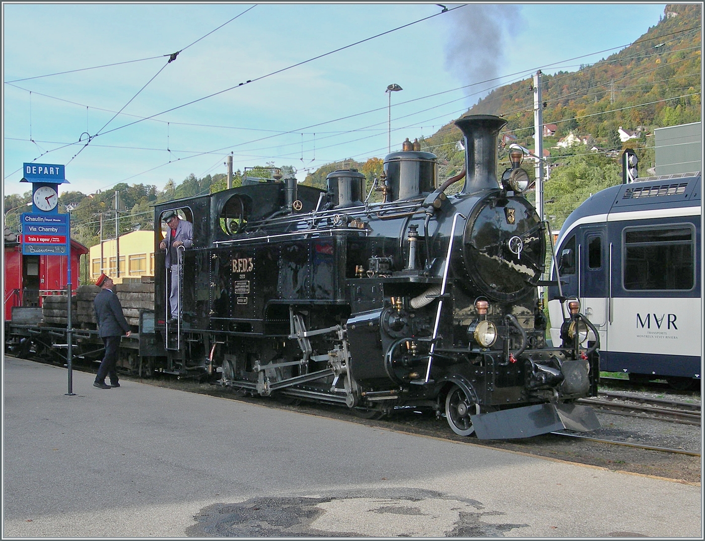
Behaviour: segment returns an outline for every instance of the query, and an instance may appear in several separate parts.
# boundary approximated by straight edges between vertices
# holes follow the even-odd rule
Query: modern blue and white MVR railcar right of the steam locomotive
[[[556,242],[551,338],[563,297],[600,334],[600,368],[684,388],[701,375],[701,173],[639,178],[592,195]],[[556,280],[556,269],[552,269]]]

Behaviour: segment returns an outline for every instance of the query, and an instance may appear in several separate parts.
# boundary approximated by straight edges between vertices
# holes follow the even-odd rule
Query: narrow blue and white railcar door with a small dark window
[[[600,334],[600,348],[607,351],[607,309],[609,258],[605,225],[590,225],[577,233],[578,243],[578,298],[582,313]]]

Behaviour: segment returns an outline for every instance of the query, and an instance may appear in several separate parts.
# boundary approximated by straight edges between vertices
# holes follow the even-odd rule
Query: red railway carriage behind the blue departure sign
[[[71,290],[78,287],[78,263],[88,248],[71,241]],[[22,245],[5,240],[5,321],[14,306],[41,306],[47,295],[66,292],[68,265],[65,256],[23,255]]]

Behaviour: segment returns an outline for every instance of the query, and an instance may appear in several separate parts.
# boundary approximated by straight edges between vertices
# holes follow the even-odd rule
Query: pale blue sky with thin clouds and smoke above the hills
[[[65,164],[70,184],[62,190],[88,194],[120,182],[161,189],[169,178],[224,173],[230,152],[234,169],[274,162],[295,167],[300,180],[337,160],[384,158],[387,85],[403,87],[391,95],[392,150],[400,150],[405,138],[431,135],[491,87],[608,56],[618,49],[599,51],[637,39],[666,6],[445,5],[446,13],[426,3],[6,3],[4,193],[27,191],[21,166],[32,161]],[[181,49],[166,65],[163,55]],[[491,78],[498,79],[482,83]],[[85,134],[94,137],[84,148]]]

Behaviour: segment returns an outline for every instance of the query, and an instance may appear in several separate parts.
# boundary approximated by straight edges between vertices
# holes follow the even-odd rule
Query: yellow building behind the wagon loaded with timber
[[[120,252],[120,273],[116,267],[116,248]],[[90,248],[90,279],[95,281],[101,272],[110,276],[116,284],[123,279],[140,279],[142,276],[154,276],[154,231],[133,231],[119,238],[103,241]],[[131,281],[131,280],[128,280]]]

